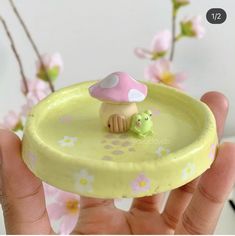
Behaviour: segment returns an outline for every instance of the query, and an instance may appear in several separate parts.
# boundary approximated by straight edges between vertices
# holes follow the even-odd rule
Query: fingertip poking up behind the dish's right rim
[[[201,101],[206,103],[213,112],[216,118],[218,137],[221,138],[229,108],[227,98],[219,92],[208,92],[202,96]]]

